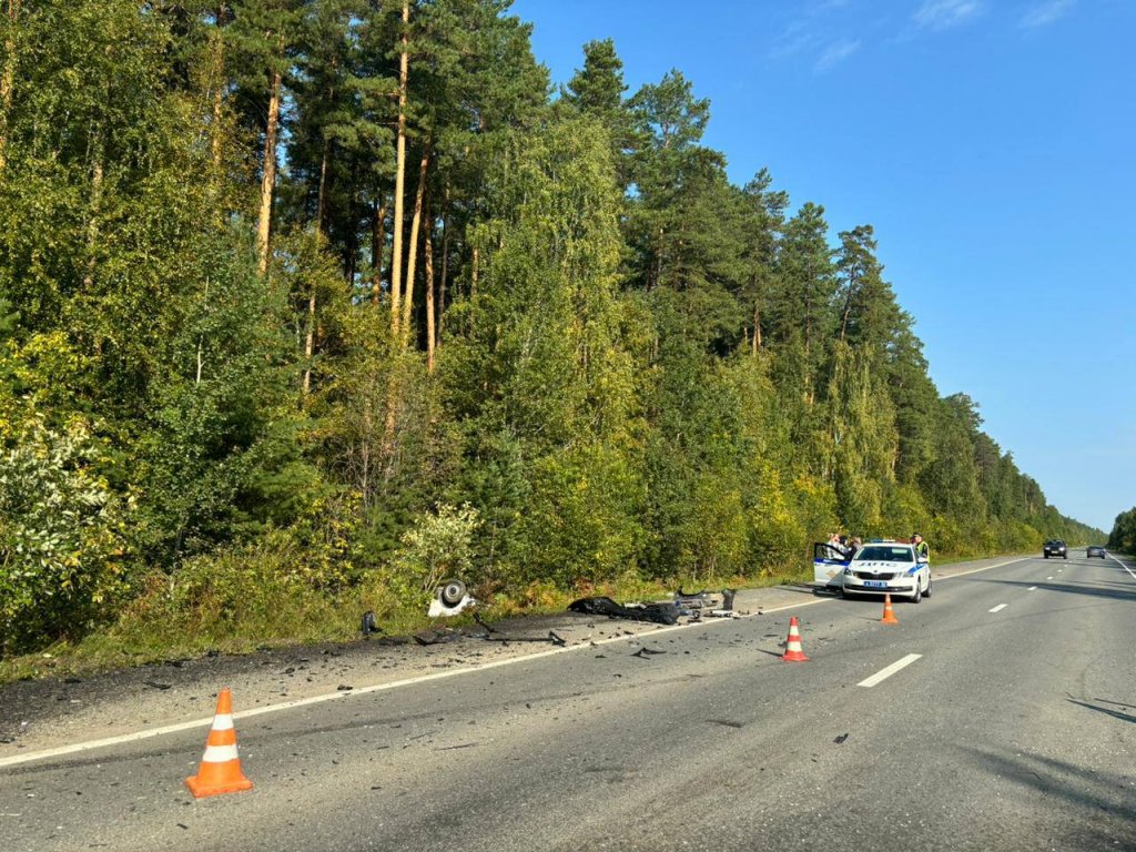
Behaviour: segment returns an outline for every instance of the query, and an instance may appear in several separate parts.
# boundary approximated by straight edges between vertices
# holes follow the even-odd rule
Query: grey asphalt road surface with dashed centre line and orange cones
[[[782,611],[239,720],[248,793],[189,795],[200,730],[0,768],[0,849],[1136,849],[1136,568],[895,612],[802,607],[808,663]]]

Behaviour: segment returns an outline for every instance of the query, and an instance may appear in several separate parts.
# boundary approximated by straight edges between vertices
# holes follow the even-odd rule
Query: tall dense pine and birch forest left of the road
[[[1103,536],[939,394],[871,225],[508,7],[0,3],[0,652]]]

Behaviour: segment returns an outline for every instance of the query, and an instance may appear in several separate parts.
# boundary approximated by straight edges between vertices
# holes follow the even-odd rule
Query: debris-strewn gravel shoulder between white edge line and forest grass
[[[1013,557],[936,565],[933,578],[994,567]],[[821,603],[809,585],[738,591],[738,617],[787,623],[786,609]],[[768,615],[767,615],[768,613]],[[444,623],[446,619],[438,619]],[[678,629],[713,629],[729,619],[683,618]],[[22,680],[0,686],[0,760],[22,753],[201,720],[208,724],[219,688],[233,691],[240,713],[302,699],[457,673],[531,657],[633,640],[676,627],[576,612],[515,618],[446,629],[445,641],[371,636],[343,644],[274,649],[247,655],[167,660],[86,678]],[[445,625],[440,624],[438,629]],[[554,634],[557,641],[550,638]],[[561,644],[562,643],[562,644]]]

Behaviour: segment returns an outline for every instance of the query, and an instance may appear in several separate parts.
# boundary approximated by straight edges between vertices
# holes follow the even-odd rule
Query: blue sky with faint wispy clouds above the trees
[[[742,184],[870,224],[944,395],[1049,501],[1136,506],[1136,0],[516,0],[565,83],[677,68]]]

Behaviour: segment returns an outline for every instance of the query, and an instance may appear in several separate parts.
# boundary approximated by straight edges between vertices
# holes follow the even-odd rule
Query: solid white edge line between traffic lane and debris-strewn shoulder
[[[969,574],[978,574],[979,571],[989,571],[994,568],[1002,568],[1006,565],[1013,565],[1014,562],[1025,562],[1031,557],[1019,557],[1018,559],[1009,559],[1004,562],[997,562],[996,565],[988,565],[985,568],[975,568],[969,571],[960,571],[959,574],[952,574],[950,577],[939,577],[939,582],[947,579],[954,579],[955,577],[964,577]],[[1114,558],[1114,557],[1113,557]],[[1119,561],[1119,560],[1118,560]],[[1129,571],[1131,574],[1131,571]],[[1136,578],[1136,575],[1133,575]],[[750,612],[749,615],[740,616],[740,618],[757,618],[758,616],[768,616],[772,612],[784,612],[791,609],[801,609],[802,607],[812,607],[818,603],[832,603],[835,598],[818,598],[815,601],[802,601],[800,603],[791,603],[787,607],[775,607],[772,609],[762,608],[760,612]],[[435,671],[429,675],[419,675],[417,677],[408,677],[401,680],[391,680],[390,683],[375,684],[373,686],[361,686],[358,690],[351,690],[350,692],[329,692],[321,695],[311,695],[307,699],[296,699],[295,701],[283,701],[278,704],[268,704],[266,707],[253,708],[252,710],[242,710],[239,713],[233,713],[234,719],[247,719],[252,716],[261,716],[264,713],[274,713],[281,710],[292,710],[298,707],[307,707],[309,704],[320,704],[325,701],[335,701],[336,699],[346,699],[352,695],[365,695],[371,692],[382,692],[384,690],[395,690],[402,686],[411,686],[414,684],[425,683],[427,680],[441,680],[445,677],[457,677],[458,675],[467,675],[473,671],[484,671],[485,669],[496,668],[499,666],[509,666],[517,662],[528,662],[529,660],[538,660],[543,657],[552,657],[554,654],[567,653],[570,651],[580,651],[588,648],[595,648],[598,645],[607,645],[612,642],[626,642],[627,640],[640,638],[641,636],[658,636],[660,633],[669,633],[671,630],[685,630],[691,627],[699,626],[711,626],[717,624],[729,624],[738,619],[735,618],[720,618],[710,619],[705,621],[695,621],[693,624],[675,625],[674,627],[661,627],[657,630],[652,630],[650,634],[634,634],[632,636],[611,636],[604,640],[593,640],[590,642],[582,642],[578,645],[569,645],[567,648],[556,648],[550,651],[541,651],[533,654],[526,654],[524,657],[512,657],[506,660],[494,660],[492,662],[483,662],[477,666],[470,666],[468,668],[452,669],[450,671]],[[211,725],[214,720],[212,716],[204,719],[193,719],[192,721],[182,721],[174,725],[164,725],[158,728],[148,728],[145,730],[136,730],[132,734],[119,734],[118,736],[108,736],[102,740],[89,740],[82,743],[72,743],[70,745],[60,745],[55,749],[44,749],[43,751],[28,752],[27,754],[12,754],[11,757],[0,758],[0,767],[16,766],[18,763],[28,763],[33,760],[47,760],[49,758],[60,758],[67,754],[74,754],[81,751],[91,751],[92,749],[102,749],[108,745],[123,745],[124,743],[133,743],[139,740],[150,740],[156,736],[165,736],[166,734],[177,734],[182,730],[192,730],[193,728],[204,727]]]

